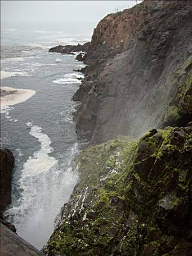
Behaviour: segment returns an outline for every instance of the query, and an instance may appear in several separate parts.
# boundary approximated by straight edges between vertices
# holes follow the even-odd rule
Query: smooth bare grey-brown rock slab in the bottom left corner
[[[2,256],[43,256],[28,242],[17,236],[10,229],[0,223],[1,255]]]

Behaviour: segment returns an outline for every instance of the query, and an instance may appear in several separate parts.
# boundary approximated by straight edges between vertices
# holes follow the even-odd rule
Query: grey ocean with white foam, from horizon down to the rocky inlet
[[[1,86],[33,90],[28,100],[1,108],[1,148],[15,156],[12,204],[4,212],[17,234],[40,249],[78,180],[71,163],[79,152],[72,101],[84,64],[48,52],[91,40],[92,23],[10,22],[1,26]]]

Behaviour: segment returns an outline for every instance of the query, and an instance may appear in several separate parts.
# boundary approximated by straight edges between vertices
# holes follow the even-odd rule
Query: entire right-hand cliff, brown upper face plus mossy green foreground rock
[[[144,1],[99,22],[74,95],[90,145],[47,256],[191,256],[191,17],[191,1]]]

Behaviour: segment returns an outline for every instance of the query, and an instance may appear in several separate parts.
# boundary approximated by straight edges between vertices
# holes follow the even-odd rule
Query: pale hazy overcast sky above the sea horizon
[[[139,3],[140,1],[138,1]],[[1,20],[6,21],[92,21],[98,22],[119,6],[134,1],[2,1]]]

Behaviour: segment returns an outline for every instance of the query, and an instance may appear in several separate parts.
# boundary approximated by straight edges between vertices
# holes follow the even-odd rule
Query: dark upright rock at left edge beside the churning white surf
[[[13,232],[16,232],[15,227],[3,219],[4,210],[12,202],[13,167],[14,157],[12,152],[8,149],[0,149],[0,222],[10,228]]]

